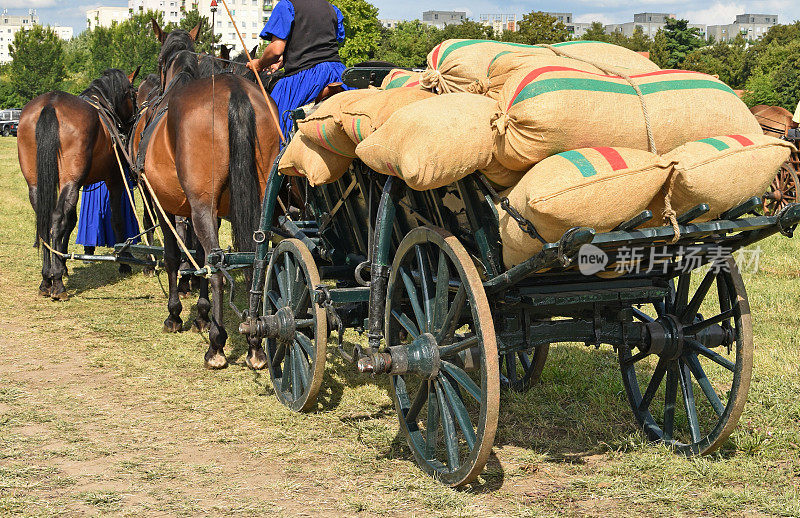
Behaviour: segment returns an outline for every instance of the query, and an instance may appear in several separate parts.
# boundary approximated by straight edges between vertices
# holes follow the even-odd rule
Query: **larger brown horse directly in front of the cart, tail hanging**
[[[153,29],[162,43],[159,67],[166,92],[164,101],[154,110],[161,112],[164,103],[168,109],[151,123],[145,177],[171,221],[175,216],[191,218],[203,255],[219,249],[218,217],[230,219],[237,250],[253,251],[260,194],[280,146],[270,108],[258,87],[242,77],[222,74],[196,79],[196,31],[165,34],[155,21]],[[164,223],[164,262],[169,278],[169,316],[164,330],[177,332],[182,329],[177,292],[180,251]],[[210,345],[205,363],[218,369],[227,365],[221,273],[211,276],[211,286],[213,307],[208,288],[201,285],[194,325],[208,327]],[[263,368],[266,355],[260,340],[249,345],[247,364]]]

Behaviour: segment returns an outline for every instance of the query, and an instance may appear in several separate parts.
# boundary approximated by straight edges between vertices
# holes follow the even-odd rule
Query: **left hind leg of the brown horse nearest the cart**
[[[200,245],[206,253],[219,248],[216,218],[210,207],[198,207],[198,204],[192,204],[192,223]],[[211,326],[208,329],[209,346],[205,354],[205,362],[209,369],[222,369],[228,366],[224,352],[228,332],[225,331],[223,321],[222,303],[225,293],[222,274],[219,272],[211,276],[211,293]],[[200,301],[197,304],[199,313]]]

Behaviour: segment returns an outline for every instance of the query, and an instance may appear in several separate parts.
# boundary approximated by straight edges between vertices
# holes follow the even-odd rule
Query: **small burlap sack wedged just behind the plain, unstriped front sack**
[[[394,88],[379,91],[342,108],[342,127],[356,144],[380,128],[394,112],[436,94],[415,88]]]

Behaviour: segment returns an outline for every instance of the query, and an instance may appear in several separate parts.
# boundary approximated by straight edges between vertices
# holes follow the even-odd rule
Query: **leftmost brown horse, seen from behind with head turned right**
[[[17,152],[28,195],[36,212],[36,243],[66,253],[77,222],[76,204],[81,186],[105,181],[117,242],[124,236],[121,215],[123,182],[114,156],[113,140],[100,111],[110,123],[128,130],[136,107],[132,81],[139,70],[125,75],[109,69],[80,97],[55,91],[25,105],[19,121]],[[96,106],[100,106],[98,109]],[[65,260],[42,249],[39,293],[54,300],[69,298],[64,288]],[[121,265],[121,273],[130,266]]]

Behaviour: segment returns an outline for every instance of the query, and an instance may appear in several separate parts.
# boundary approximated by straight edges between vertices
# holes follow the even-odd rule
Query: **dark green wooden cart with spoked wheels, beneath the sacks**
[[[348,81],[383,75],[359,70]],[[286,182],[304,206],[279,200]],[[390,377],[416,462],[456,486],[473,481],[490,454],[501,389],[530,387],[558,342],[615,349],[649,439],[687,455],[719,448],[741,416],[753,362],[735,257],[773,234],[791,236],[800,222],[800,205],[762,216],[760,204],[696,223],[709,210],[699,205],[677,228],[642,228],[653,217],[645,211],[608,233],[571,229],[506,268],[498,211],[507,204],[477,173],[420,192],[356,161],[337,182],[311,188],[277,174],[276,161],[257,251],[214,251],[208,263],[253,265],[240,331],[266,339],[283,404],[316,407],[328,336],[338,331],[354,369]],[[288,211],[276,218],[279,205]],[[364,331],[367,344],[346,350],[344,328]]]

